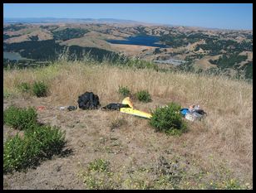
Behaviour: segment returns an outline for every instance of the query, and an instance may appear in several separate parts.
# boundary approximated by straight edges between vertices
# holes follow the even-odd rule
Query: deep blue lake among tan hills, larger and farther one
[[[138,46],[154,46],[160,48],[166,48],[163,44],[158,44],[156,42],[160,41],[159,36],[129,36],[126,40],[106,40],[111,44],[126,44],[126,45],[138,45]]]

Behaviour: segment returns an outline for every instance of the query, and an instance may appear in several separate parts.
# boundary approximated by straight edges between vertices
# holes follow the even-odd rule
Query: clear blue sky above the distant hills
[[[252,30],[253,3],[4,3],[3,17],[115,18]]]

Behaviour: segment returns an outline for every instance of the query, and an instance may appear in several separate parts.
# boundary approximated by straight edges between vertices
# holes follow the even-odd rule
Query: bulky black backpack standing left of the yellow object
[[[81,94],[81,96],[78,97],[77,103],[78,107],[84,110],[98,109],[98,107],[101,106],[98,95],[93,94],[92,92]]]

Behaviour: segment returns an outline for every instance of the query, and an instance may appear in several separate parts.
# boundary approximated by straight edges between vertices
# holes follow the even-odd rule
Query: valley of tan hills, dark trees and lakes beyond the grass
[[[245,71],[244,76],[252,78],[253,31],[41,21],[5,23],[3,38],[3,50],[8,52],[4,58],[16,52],[34,63],[57,60],[64,53],[76,55],[78,60],[88,53],[98,60],[110,55],[125,55],[168,64],[170,68],[181,65],[181,69],[190,66],[195,71],[222,70],[237,75]],[[175,60],[185,62],[175,63]]]

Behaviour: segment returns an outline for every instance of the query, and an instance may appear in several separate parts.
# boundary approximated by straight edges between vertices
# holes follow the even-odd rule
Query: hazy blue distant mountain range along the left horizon
[[[55,17],[35,17],[35,18],[3,18],[3,23],[117,23],[117,24],[145,24],[146,22],[137,22],[132,20],[114,19],[114,18],[55,18]]]

